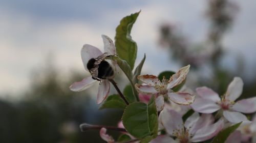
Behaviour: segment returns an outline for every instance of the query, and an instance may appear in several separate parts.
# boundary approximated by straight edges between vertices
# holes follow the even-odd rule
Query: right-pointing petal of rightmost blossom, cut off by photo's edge
[[[232,109],[243,113],[255,112],[256,97],[240,100],[232,106]]]

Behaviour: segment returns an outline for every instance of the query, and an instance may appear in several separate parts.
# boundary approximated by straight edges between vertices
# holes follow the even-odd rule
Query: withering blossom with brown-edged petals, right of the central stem
[[[168,99],[180,105],[189,105],[194,102],[195,96],[186,92],[174,92],[172,89],[177,87],[186,79],[189,67],[185,66],[181,68],[177,73],[173,74],[170,79],[163,78],[160,81],[155,75],[139,75],[138,79],[145,85],[136,84],[136,89],[139,93],[144,94],[156,94],[156,106],[160,111],[164,106],[164,97],[168,96]]]

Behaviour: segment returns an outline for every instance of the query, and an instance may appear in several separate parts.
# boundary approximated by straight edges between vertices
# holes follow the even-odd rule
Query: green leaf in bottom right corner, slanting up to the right
[[[212,140],[211,143],[224,143],[226,141],[226,139],[228,138],[228,136],[233,132],[235,131],[240,125],[241,125],[242,122],[238,123],[238,124],[235,124],[233,126],[230,126],[222,131],[220,131],[218,133],[218,135],[214,138],[214,140]]]

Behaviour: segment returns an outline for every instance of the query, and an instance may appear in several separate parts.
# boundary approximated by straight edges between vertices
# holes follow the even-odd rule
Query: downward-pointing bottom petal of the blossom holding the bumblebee
[[[110,93],[110,82],[108,80],[102,80],[99,85],[97,103],[100,104]]]

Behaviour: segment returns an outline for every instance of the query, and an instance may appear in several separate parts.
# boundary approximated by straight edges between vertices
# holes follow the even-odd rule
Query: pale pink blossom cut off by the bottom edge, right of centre
[[[183,123],[182,116],[178,112],[166,110],[165,108],[160,113],[159,118],[167,135],[160,135],[153,139],[151,143],[205,141],[216,136],[224,126],[223,119],[214,123],[214,117],[211,114],[202,114],[202,116],[199,116],[197,112],[193,113]],[[176,139],[174,140],[172,137],[176,137]]]

